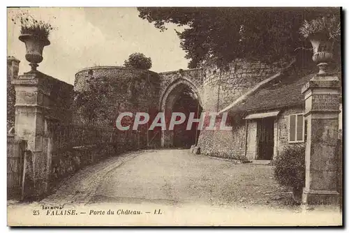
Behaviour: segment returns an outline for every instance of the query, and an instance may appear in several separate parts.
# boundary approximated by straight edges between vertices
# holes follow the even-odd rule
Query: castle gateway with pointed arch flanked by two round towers
[[[118,112],[125,110],[151,111],[151,114],[165,112],[168,123],[172,112],[184,111],[186,119],[189,112],[195,112],[195,118],[198,118],[201,112],[219,112],[255,85],[279,73],[289,63],[280,61],[267,64],[235,59],[229,66],[221,69],[207,63],[205,68],[165,73],[116,66],[84,68],[75,75],[73,121],[91,124],[86,116],[83,117],[82,108],[85,106],[78,100],[79,93],[89,91],[91,84],[95,89],[100,89],[98,95],[101,98],[90,96],[89,103],[98,100],[99,104],[95,110],[108,112],[104,118],[95,119],[93,124],[112,126]],[[226,151],[234,155],[244,154],[243,147],[234,148],[238,141],[238,144],[244,143],[241,135],[233,132],[200,132],[195,128],[184,132],[180,126],[176,126],[174,130],[156,130],[151,132],[150,137],[158,146],[188,148],[192,144],[198,144],[203,153]]]

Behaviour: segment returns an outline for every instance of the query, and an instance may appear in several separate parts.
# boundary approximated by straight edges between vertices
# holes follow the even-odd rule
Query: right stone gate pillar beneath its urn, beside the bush
[[[307,121],[303,202],[338,204],[339,79],[317,75],[304,85],[302,93]]]

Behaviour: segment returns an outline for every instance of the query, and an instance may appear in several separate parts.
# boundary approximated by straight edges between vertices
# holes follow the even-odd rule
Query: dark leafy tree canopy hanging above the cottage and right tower
[[[223,66],[235,58],[277,61],[311,48],[301,38],[304,20],[336,15],[339,8],[138,8],[139,17],[160,30],[166,23],[185,26],[177,31],[189,68],[208,59]],[[340,43],[339,43],[340,45]]]

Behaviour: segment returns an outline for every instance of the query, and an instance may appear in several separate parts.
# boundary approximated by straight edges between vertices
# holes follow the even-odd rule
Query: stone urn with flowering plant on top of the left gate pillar
[[[43,61],[43,48],[50,45],[48,36],[53,27],[51,24],[41,20],[35,20],[29,13],[20,13],[12,21],[21,24],[21,35],[19,39],[25,43],[25,58],[29,61],[31,70],[36,70],[38,63]]]

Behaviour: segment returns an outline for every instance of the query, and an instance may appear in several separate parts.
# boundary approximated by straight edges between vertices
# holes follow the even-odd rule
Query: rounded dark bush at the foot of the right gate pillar
[[[300,189],[305,183],[305,147],[288,146],[274,162],[274,177],[282,186]]]

